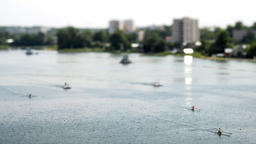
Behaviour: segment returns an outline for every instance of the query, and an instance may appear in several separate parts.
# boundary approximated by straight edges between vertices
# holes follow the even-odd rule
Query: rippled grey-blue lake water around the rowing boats
[[[33,52],[0,51],[0,144],[256,143],[254,62]]]

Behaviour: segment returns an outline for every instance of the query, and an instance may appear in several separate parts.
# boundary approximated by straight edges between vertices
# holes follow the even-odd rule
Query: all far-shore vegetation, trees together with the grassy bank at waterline
[[[246,31],[241,40],[234,39],[234,31]],[[226,29],[220,27],[204,27],[200,29],[200,45],[196,43],[171,43],[172,26],[161,29],[138,29],[144,32],[143,40],[138,39],[137,32],[125,33],[116,31],[109,34],[107,29],[92,31],[90,29],[76,29],[66,27],[54,29],[48,33],[8,33],[0,31],[0,49],[8,46],[42,46],[59,52],[143,52],[156,56],[168,54],[184,55],[183,49],[192,48],[194,57],[214,56],[225,54],[226,48],[236,50],[235,54],[224,55],[233,58],[253,58],[256,56],[256,23],[245,26],[242,22],[228,25]],[[7,42],[6,40],[13,41]],[[132,45],[136,43],[136,45]],[[246,49],[240,49],[239,47]],[[176,50],[176,52],[171,52]]]

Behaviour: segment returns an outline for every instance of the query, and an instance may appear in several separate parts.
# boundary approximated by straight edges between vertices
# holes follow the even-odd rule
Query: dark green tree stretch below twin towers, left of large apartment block
[[[140,43],[143,52],[163,52],[166,50],[165,36],[171,34],[171,26],[165,26],[164,30],[146,30],[143,41],[137,40],[137,33],[124,33],[116,31],[108,34],[107,30],[92,33],[89,29],[80,31],[74,27],[59,29],[58,49],[105,48],[107,51],[132,50],[131,43]],[[109,46],[106,46],[109,43]]]

